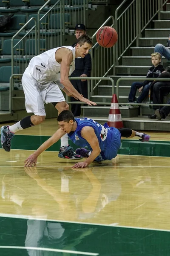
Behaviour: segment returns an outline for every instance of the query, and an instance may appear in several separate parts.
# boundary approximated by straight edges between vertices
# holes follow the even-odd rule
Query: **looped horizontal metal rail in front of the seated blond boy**
[[[136,81],[136,80],[138,80],[138,81],[144,81],[144,80],[146,80],[147,79],[147,81],[170,81],[170,79],[169,78],[141,78],[141,77],[130,77],[130,78],[128,78],[128,77],[120,77],[118,80],[117,80],[117,82],[116,82],[116,96],[117,96],[117,99],[118,99],[118,102],[119,102],[119,82],[120,81],[122,81],[122,80],[124,80],[124,81]],[[119,103],[119,105],[127,105],[127,103]],[[147,106],[170,106],[170,104],[159,104],[159,103],[128,103],[128,105],[147,105]]]

